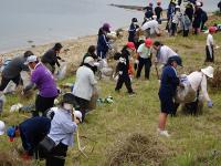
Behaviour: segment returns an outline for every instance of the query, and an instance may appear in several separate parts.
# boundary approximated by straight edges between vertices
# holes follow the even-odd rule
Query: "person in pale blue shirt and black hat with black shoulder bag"
[[[53,111],[51,128],[48,136],[40,143],[46,156],[46,166],[64,166],[69,146],[73,145],[73,134],[82,122],[81,112],[75,111],[74,95],[63,95],[61,106]]]

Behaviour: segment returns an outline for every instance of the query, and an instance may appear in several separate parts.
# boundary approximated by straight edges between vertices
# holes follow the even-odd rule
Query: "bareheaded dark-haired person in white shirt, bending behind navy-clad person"
[[[172,49],[170,49],[167,45],[164,45],[159,41],[155,41],[152,46],[157,51],[156,63],[160,63],[165,65],[167,64],[167,61],[170,56],[175,56],[175,55],[179,56]]]

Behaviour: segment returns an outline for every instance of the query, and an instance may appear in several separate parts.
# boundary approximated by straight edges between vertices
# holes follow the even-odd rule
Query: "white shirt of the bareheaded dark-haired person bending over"
[[[172,49],[167,45],[160,46],[157,51],[158,63],[166,64],[170,56],[178,55]]]

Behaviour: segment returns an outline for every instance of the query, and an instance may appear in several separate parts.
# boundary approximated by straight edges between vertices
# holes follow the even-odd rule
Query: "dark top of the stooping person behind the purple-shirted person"
[[[42,63],[49,63],[52,66],[54,66],[55,64],[60,66],[59,59],[60,58],[57,56],[57,53],[53,49],[50,49],[44,53],[41,61]]]

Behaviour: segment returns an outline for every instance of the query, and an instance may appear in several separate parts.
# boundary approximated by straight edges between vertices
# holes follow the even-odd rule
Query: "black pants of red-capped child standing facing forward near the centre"
[[[143,59],[139,56],[139,63],[138,63],[138,69],[137,69],[137,79],[140,77],[140,73],[143,70],[143,66],[145,65],[145,79],[149,80],[149,72],[151,68],[151,60],[150,59]]]

